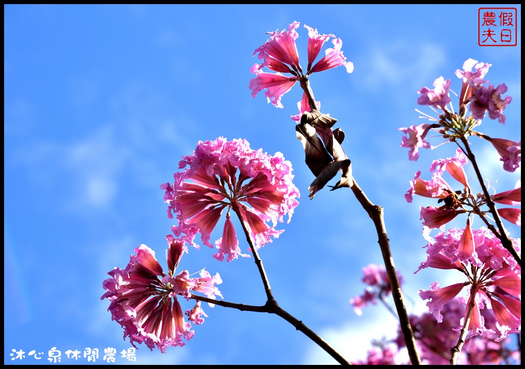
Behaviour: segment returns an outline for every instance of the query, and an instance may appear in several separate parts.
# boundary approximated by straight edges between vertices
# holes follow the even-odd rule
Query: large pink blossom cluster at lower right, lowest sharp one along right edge
[[[512,239],[512,242],[519,252],[520,240]],[[485,326],[484,319],[480,315],[482,309],[492,309],[496,318],[500,337],[495,341],[505,339],[510,333],[520,332],[521,268],[489,229],[472,230],[467,224],[465,229],[453,228],[438,233],[435,239],[430,239],[426,247],[427,260],[417,271],[428,267],[435,268],[436,264],[440,265],[449,260],[449,269],[460,270],[468,278],[467,282],[459,282],[443,288],[438,282],[434,282],[429,290],[419,290],[422,299],[430,300],[427,306],[438,322],[443,320],[441,311],[444,305],[468,286],[468,295],[459,300],[466,305],[465,311],[468,304],[474,302],[467,327],[470,335],[489,336],[495,333]],[[457,323],[459,323],[457,330],[460,330],[464,321],[461,319]]]

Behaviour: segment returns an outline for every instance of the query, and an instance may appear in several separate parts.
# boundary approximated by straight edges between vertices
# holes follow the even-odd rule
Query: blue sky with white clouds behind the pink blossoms
[[[407,309],[422,312],[419,289],[458,280],[428,269],[413,275],[425,260],[419,206],[435,204],[408,204],[403,194],[416,171],[429,176],[432,160],[455,147],[409,162],[397,129],[424,122],[414,111],[417,91],[437,77],[459,92],[454,72],[473,58],[492,64],[486,79],[506,83],[512,97],[506,125],[486,119],[481,131],[521,139],[521,6],[493,7],[517,8],[516,47],[478,46],[478,5],[4,5],[4,363],[48,364],[51,347],[62,351],[61,364],[75,364],[67,350],[131,347],[100,300],[102,281],[140,244],[165,266],[164,236],[174,223],[159,186],[197,141],[218,136],[292,162],[300,205],[260,251],[280,306],[348,360],[362,359],[371,339],[392,338],[396,322],[385,309],[357,317],[349,304],[364,289],[361,268],[382,262],[373,224],[349,189],[308,198],[314,178],[289,118],[302,91],[285,94],[283,109],[262,92],[252,98],[253,53],[267,31],[293,21],[301,23],[301,60],[303,24],[342,39],[353,73],[314,73],[311,87],[321,112],[346,133],[356,181],[385,208],[394,262],[413,301]],[[474,141],[487,180],[498,192],[512,188],[521,170],[503,171],[492,147]],[[520,237],[520,228],[508,229]],[[227,264],[213,253],[191,249],[181,268],[219,272],[227,301],[265,303],[253,259]],[[166,354],[139,346],[137,364],[334,363],[278,317],[204,309],[209,318],[186,346]],[[45,354],[12,361],[13,349]]]

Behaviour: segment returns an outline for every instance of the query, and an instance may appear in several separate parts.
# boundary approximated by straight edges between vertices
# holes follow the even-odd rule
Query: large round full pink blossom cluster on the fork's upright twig
[[[258,249],[283,232],[275,229],[277,223],[285,215],[290,222],[299,204],[291,163],[281,153],[251,150],[246,140],[199,141],[193,155],[183,156],[178,166],[186,168],[174,174],[173,185],[161,185],[168,217],[174,214],[178,220],[172,230],[177,237],[184,234],[183,239],[196,248],[194,239],[199,233],[204,245],[213,248],[211,233],[225,210],[223,236],[215,241],[218,260],[226,255],[228,262],[248,256],[238,247],[230,210],[246,225]]]

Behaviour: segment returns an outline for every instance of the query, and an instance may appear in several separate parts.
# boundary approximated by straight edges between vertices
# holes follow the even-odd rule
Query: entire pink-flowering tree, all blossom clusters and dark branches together
[[[521,182],[513,189],[494,190],[497,193],[489,194],[493,188],[484,183],[468,141],[471,136],[477,136],[490,142],[503,162],[503,169],[514,172],[519,168],[521,139],[491,138],[478,129],[487,114],[488,118],[505,124],[503,111],[512,101],[508,96],[503,97],[507,86],[504,83],[494,86],[485,80],[490,64],[468,59],[463,70],[456,71],[461,79],[457,109],[450,99],[452,81],[439,77],[433,88],[420,89],[421,96],[417,99],[418,104],[428,106],[437,117],[425,114],[423,118],[430,123],[398,129],[404,134],[401,146],[409,149],[411,161],[418,160],[419,149],[433,147],[427,141],[429,132],[437,132],[444,139],[442,143],[457,145],[453,156],[432,162],[432,178],[424,179],[422,172],[417,171],[409,182],[405,199],[410,203],[417,195],[437,205],[420,209],[423,237],[428,244],[427,259],[416,272],[425,268],[455,270],[463,280],[446,287],[440,287],[436,281],[428,290],[419,290],[419,297],[429,300],[429,313],[408,316],[401,291],[403,278],[394,268],[383,209],[372,204],[357,184],[351,161],[342,149],[344,132],[333,129],[337,119],[320,112],[321,103],[314,98],[308,79],[312,73],[338,66],[350,73],[353,64],[343,56],[340,38],[319,34],[317,29],[304,25],[308,30],[308,64],[303,70],[296,45],[299,26],[299,22],[292,22],[287,30],[269,32],[265,44],[255,49],[254,56],[262,62],[250,69],[255,78],[249,81],[249,89],[254,98],[265,90],[267,101],[283,108],[283,94],[299,82],[303,90],[297,104],[299,113],[291,118],[296,123],[296,137],[303,146],[305,162],[316,177],[308,187],[309,197],[313,198],[339,172],[341,179],[331,186],[332,190],[351,188],[376,226],[384,267],[372,264],[363,268],[366,290],[350,303],[361,315],[367,304],[381,301],[400,321],[400,331],[393,341],[375,342],[366,360],[353,364],[396,364],[396,355],[402,347],[406,347],[413,364],[487,364],[503,363],[509,358],[516,360],[517,350],[509,350],[503,342],[510,334],[521,332],[521,240],[510,237],[501,219],[521,226]],[[330,39],[333,47],[325,49],[325,55],[317,60]],[[474,168],[481,187],[479,193],[472,189],[474,181],[466,174],[467,165]],[[174,182],[160,186],[167,204],[167,217],[177,221],[171,228],[172,234],[166,236],[167,272],[155,258],[154,251],[140,245],[128,265],[111,270],[110,278],[103,282],[107,292],[101,299],[109,300],[108,310],[112,320],[124,329],[124,339],[129,338],[133,346],[144,343],[151,350],[157,347],[161,352],[169,346],[182,346],[183,339],[190,340],[194,335],[192,324],[202,324],[207,317],[201,307],[204,301],[212,307],[218,304],[276,314],[339,363],[350,364],[302,321],[279,307],[258,255],[261,247],[279,237],[283,232],[277,228],[279,223],[285,222],[285,216],[289,223],[299,204],[300,194],[292,183],[291,163],[279,152],[269,155],[262,149],[250,149],[244,139],[228,141],[219,137],[199,141],[191,155],[182,157],[178,170],[173,175]],[[447,180],[446,176],[456,182]],[[505,206],[498,208],[496,204]],[[237,217],[246,237],[246,251],[239,244],[232,215]],[[445,225],[458,216],[466,217],[465,227],[445,230]],[[472,227],[477,217],[485,227]],[[224,219],[222,237],[212,238],[221,219]],[[431,236],[436,229],[439,233]],[[186,245],[199,249],[200,244],[215,248],[213,258],[226,259],[227,263],[239,257],[253,257],[267,301],[253,306],[216,300],[223,297],[217,288],[217,284],[222,283],[218,273],[211,276],[202,269],[196,278],[187,270],[176,273],[182,255],[188,253]],[[461,296],[463,292],[466,294]],[[390,295],[395,310],[386,301]],[[178,296],[196,300],[194,307],[185,312],[187,321]]]

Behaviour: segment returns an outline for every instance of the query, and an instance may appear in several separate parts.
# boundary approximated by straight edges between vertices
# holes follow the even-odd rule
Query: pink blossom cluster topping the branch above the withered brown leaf
[[[346,67],[349,73],[354,69],[353,64],[346,61],[343,56],[341,51],[343,42],[339,38],[334,38],[333,48],[326,49],[325,56],[313,64],[324,43],[335,36],[332,34],[319,35],[317,29],[304,25],[308,29],[308,68],[306,74],[303,74],[296,45],[296,39],[299,37],[296,31],[298,27],[299,22],[293,22],[289,25],[288,30],[268,32],[270,39],[254,52],[254,56],[258,53],[258,58],[263,62],[261,65],[255,64],[250,69],[256,75],[249,83],[251,96],[255,97],[259,91],[266,89],[265,96],[268,102],[277,108],[282,108],[283,94],[288,92],[297,81],[306,79],[311,73],[338,66]],[[261,69],[264,67],[277,73],[262,72]],[[281,73],[290,73],[291,76],[284,76]]]

